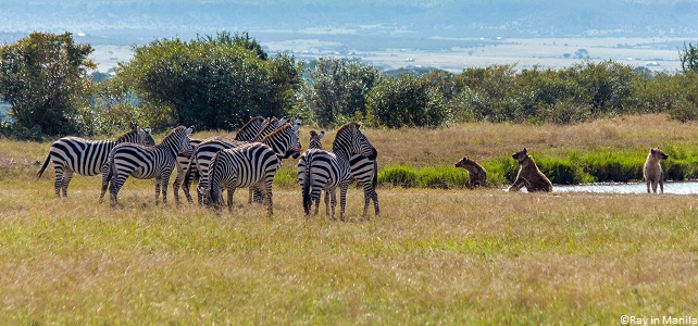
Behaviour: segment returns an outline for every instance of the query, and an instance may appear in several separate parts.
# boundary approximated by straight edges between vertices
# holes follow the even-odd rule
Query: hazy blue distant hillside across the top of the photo
[[[698,1],[4,0],[0,32],[102,35],[290,30],[403,37],[691,36]],[[335,29],[333,33],[337,33]]]

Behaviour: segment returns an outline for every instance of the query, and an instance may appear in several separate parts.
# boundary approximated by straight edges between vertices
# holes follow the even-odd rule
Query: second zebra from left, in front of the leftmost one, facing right
[[[157,146],[140,146],[122,143],[109,154],[108,173],[102,175],[102,193],[104,199],[107,186],[110,189],[110,202],[117,203],[117,195],[128,176],[139,179],[155,179],[155,204],[160,200],[162,186],[162,202],[167,203],[167,181],[175,167],[177,154],[187,152],[191,128],[176,127]],[[175,198],[176,199],[176,198]]]

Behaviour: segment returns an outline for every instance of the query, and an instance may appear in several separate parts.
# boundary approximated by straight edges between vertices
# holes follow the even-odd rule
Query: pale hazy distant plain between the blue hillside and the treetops
[[[436,67],[453,73],[473,66],[511,64],[518,68],[550,67],[560,68],[581,63],[575,58],[579,49],[588,51],[593,61],[613,60],[636,67],[647,67],[656,72],[675,73],[681,71],[680,50],[690,39],[676,37],[625,38],[625,37],[579,37],[579,38],[424,38],[406,40],[403,46],[389,42],[386,48],[375,45],[352,48],[352,45],[331,40],[326,36],[312,38],[300,35],[292,38],[273,37],[261,33],[257,37],[270,52],[290,52],[297,60],[312,60],[321,57],[352,58],[383,70],[409,66]],[[346,38],[342,37],[342,38]],[[79,38],[77,38],[80,41]],[[450,40],[450,42],[449,42]],[[86,39],[85,42],[89,42]],[[379,43],[376,36],[373,43]],[[446,46],[445,46],[446,45]],[[94,59],[98,70],[107,72],[117,63],[126,63],[133,55],[132,47],[125,45],[95,43]],[[565,58],[565,54],[569,54]],[[650,63],[648,65],[648,63]]]

